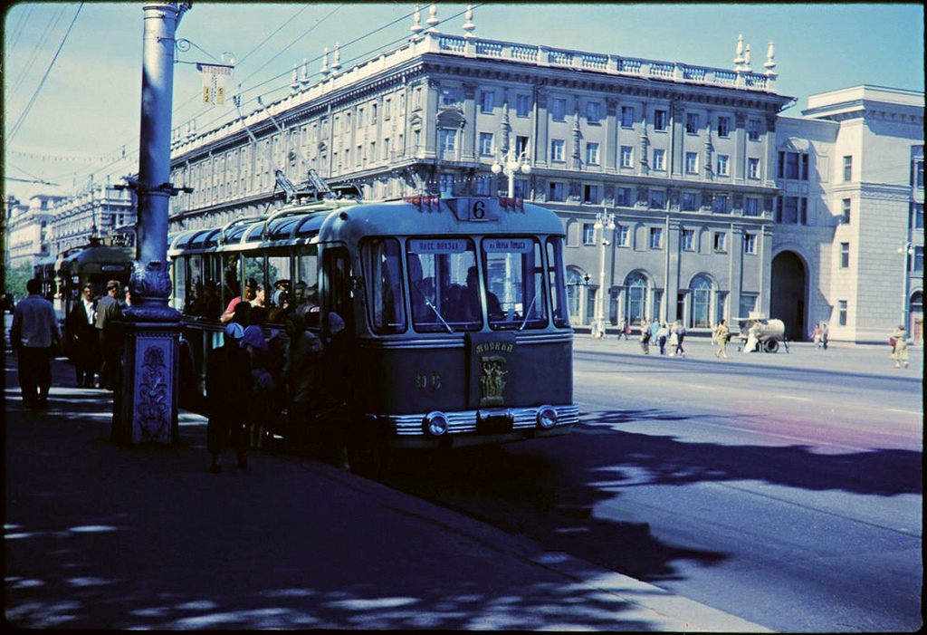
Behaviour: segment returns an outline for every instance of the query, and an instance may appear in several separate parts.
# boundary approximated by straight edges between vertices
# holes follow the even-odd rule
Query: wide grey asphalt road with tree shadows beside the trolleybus
[[[573,434],[384,482],[770,629],[920,629],[920,351],[687,349],[578,339]]]

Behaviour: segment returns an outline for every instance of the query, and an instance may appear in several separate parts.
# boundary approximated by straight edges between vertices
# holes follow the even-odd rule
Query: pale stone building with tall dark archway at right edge
[[[780,118],[771,311],[788,333],[922,341],[923,111],[923,93],[863,85]]]

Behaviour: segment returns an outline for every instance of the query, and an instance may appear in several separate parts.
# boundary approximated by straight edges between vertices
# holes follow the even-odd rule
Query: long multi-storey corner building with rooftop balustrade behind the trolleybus
[[[336,48],[318,82],[295,69],[267,108],[175,134],[171,181],[194,192],[172,201],[171,231],[266,213],[276,169],[368,198],[506,196],[492,167],[511,150],[531,168],[515,196],[565,223],[575,326],[598,311],[606,325],[679,319],[695,331],[769,313],[776,125],[792,101],[776,93],[771,45],[755,73],[740,56],[720,70],[472,31],[415,24],[408,44],[346,70]],[[604,212],[614,229],[602,232]]]

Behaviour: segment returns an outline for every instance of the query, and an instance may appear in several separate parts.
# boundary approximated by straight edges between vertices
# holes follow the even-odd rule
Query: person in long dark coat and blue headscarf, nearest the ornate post
[[[212,351],[206,374],[206,397],[209,423],[206,428],[207,449],[212,456],[210,472],[222,472],[222,452],[235,450],[238,467],[248,467],[248,414],[243,409],[251,395],[251,358],[239,346],[245,329],[232,322],[225,325],[223,345]]]

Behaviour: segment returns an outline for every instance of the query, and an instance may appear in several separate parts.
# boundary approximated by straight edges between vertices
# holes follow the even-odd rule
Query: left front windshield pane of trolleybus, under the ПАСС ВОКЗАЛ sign
[[[476,268],[476,249],[469,238],[410,238],[409,303],[413,327],[421,332],[475,331],[482,324],[478,283],[468,286]],[[467,298],[472,301],[467,302]]]

